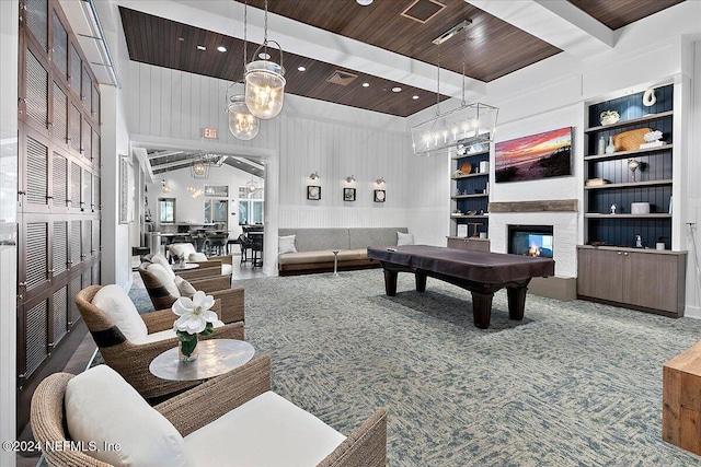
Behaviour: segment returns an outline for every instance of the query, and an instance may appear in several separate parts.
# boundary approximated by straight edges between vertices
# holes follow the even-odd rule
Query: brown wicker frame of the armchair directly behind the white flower
[[[107,314],[93,305],[93,297],[101,289],[101,285],[90,285],[81,290],[76,295],[76,304],[105,363],[147,399],[160,398],[194,386],[196,383],[169,382],[151,374],[149,371],[151,361],[168,349],[177,347],[177,338],[173,335],[172,338],[148,343],[129,341]],[[212,310],[221,317],[220,303],[216,303]],[[172,330],[176,318],[172,310],[141,315],[149,335]],[[232,323],[215,328],[215,332],[209,338],[243,340],[243,323]]]

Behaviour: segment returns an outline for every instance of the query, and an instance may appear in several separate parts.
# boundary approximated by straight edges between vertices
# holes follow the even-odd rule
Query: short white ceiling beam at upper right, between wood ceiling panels
[[[464,0],[578,58],[610,50],[618,34],[566,0]]]

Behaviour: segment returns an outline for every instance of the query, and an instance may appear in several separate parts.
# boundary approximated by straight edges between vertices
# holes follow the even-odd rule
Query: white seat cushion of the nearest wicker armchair
[[[200,467],[315,466],[346,437],[268,390],[185,436]]]

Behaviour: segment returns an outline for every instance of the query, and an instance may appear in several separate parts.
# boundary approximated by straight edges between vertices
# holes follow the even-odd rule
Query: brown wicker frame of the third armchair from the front
[[[172,292],[169,292],[163,280],[148,270],[149,265],[150,262],[141,262],[138,271],[151,297],[151,303],[153,303],[156,310],[170,308],[180,295],[173,295]],[[196,290],[202,290],[215,299],[221,299],[222,322],[235,323],[244,320],[243,288],[231,289],[231,282],[227,276],[191,280],[189,283]],[[175,289],[177,288],[175,287]]]

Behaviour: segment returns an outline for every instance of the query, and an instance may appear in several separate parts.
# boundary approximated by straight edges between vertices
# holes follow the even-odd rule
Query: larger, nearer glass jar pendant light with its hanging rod
[[[285,68],[283,67],[283,49],[275,40],[267,39],[267,0],[265,0],[265,26],[263,44],[254,56],[263,49],[265,59],[253,60],[245,66],[245,105],[253,116],[264,120],[275,118],[283,110],[285,97]],[[275,44],[280,51],[280,65],[268,60],[267,45]]]

